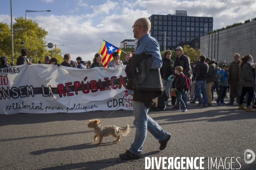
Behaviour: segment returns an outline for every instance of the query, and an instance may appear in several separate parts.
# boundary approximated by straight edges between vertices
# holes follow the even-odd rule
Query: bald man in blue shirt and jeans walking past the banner
[[[140,18],[135,21],[134,26],[132,26],[134,32],[134,38],[137,38],[137,49],[136,54],[141,54],[143,51],[146,51],[147,54],[151,54],[153,57],[153,62],[151,65],[151,72],[158,73],[159,79],[158,87],[161,87],[160,91],[163,94],[163,85],[161,82],[159,69],[162,66],[162,57],[160,54],[160,47],[156,39],[150,37],[149,30],[151,28],[151,23],[148,18]],[[136,55],[135,54],[135,55]],[[131,57],[133,59],[133,57]],[[130,60],[131,60],[130,59]],[[149,72],[150,72],[149,71]],[[155,84],[157,82],[156,77],[149,78],[150,81],[148,84]],[[157,106],[157,96],[155,95],[156,91],[153,89],[134,91],[133,95],[133,110],[134,110],[134,126],[136,127],[134,143],[131,144],[129,150],[125,153],[120,154],[120,158],[124,160],[140,158],[142,152],[142,146],[145,142],[147,136],[147,130],[159,140],[160,150],[166,148],[166,144],[171,138],[171,135],[163,130],[157,122],[151,119],[148,116],[148,110],[150,107],[154,108]],[[148,98],[156,96],[154,99],[148,102]],[[148,107],[148,104],[150,105]]]

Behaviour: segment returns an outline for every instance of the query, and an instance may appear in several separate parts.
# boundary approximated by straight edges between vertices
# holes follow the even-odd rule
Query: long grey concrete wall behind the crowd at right
[[[200,41],[200,54],[210,59],[229,63],[239,53],[241,57],[251,54],[256,61],[256,20],[206,35]]]

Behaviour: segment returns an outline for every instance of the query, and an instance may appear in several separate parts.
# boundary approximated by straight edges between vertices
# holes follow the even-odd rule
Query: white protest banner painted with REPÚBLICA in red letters
[[[78,69],[32,64],[0,68],[0,114],[132,110],[125,65]],[[130,98],[129,98],[130,97]]]

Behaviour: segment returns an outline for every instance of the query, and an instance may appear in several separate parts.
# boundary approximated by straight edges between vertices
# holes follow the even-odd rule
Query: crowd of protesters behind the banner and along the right
[[[152,108],[157,111],[165,110],[171,107],[175,110],[187,111],[187,101],[195,103],[198,100],[197,107],[212,106],[213,92],[216,91],[217,99],[215,105],[234,105],[235,99],[239,105],[239,109],[245,111],[254,111],[256,109],[255,95],[255,68],[253,58],[246,55],[240,59],[240,54],[234,54],[234,61],[229,65],[223,64],[220,67],[218,62],[201,55],[195,62],[190,62],[189,57],[183,54],[183,48],[175,49],[177,57],[172,61],[172,51],[167,50],[162,59],[162,67],[160,75],[164,88],[164,94],[158,98],[159,105]],[[31,64],[26,56],[29,51],[26,48],[21,50],[20,56],[17,58],[17,65]],[[117,65],[127,65],[129,59],[135,51],[127,52],[125,61],[120,60],[119,52],[113,52],[113,59],[108,62],[108,68]],[[8,58],[2,56],[0,58],[0,68],[11,67],[13,64],[8,63]],[[38,64],[41,64],[38,61]],[[104,67],[102,65],[102,56],[96,53],[93,62],[90,60],[83,61],[81,57],[77,57],[76,61],[71,60],[70,54],[64,55],[64,61],[58,63],[56,58],[50,56],[44,57],[44,64],[62,65],[66,67],[90,69],[94,67]],[[186,87],[189,86],[189,87]],[[230,102],[225,103],[224,98],[230,93]],[[171,105],[168,99],[171,98]],[[176,102],[177,100],[177,102]],[[253,102],[252,108],[250,107]],[[244,107],[243,103],[247,106]]]

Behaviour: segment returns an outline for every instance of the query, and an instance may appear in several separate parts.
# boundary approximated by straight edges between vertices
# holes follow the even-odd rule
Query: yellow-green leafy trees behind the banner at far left
[[[0,55],[6,55],[9,58],[9,63],[12,56],[10,29],[11,26],[8,26],[6,23],[0,23]],[[25,20],[23,17],[15,18],[15,23],[13,24],[14,64],[16,64],[17,58],[20,55],[22,49],[20,42],[22,40],[26,43],[23,48],[28,48],[29,50],[27,57],[33,58],[32,63],[37,63],[38,60],[43,61],[47,54],[47,47],[33,45],[45,45],[47,43],[47,35],[48,32],[44,28],[39,27],[36,21],[31,19]],[[59,54],[61,53],[60,50],[58,52]]]

